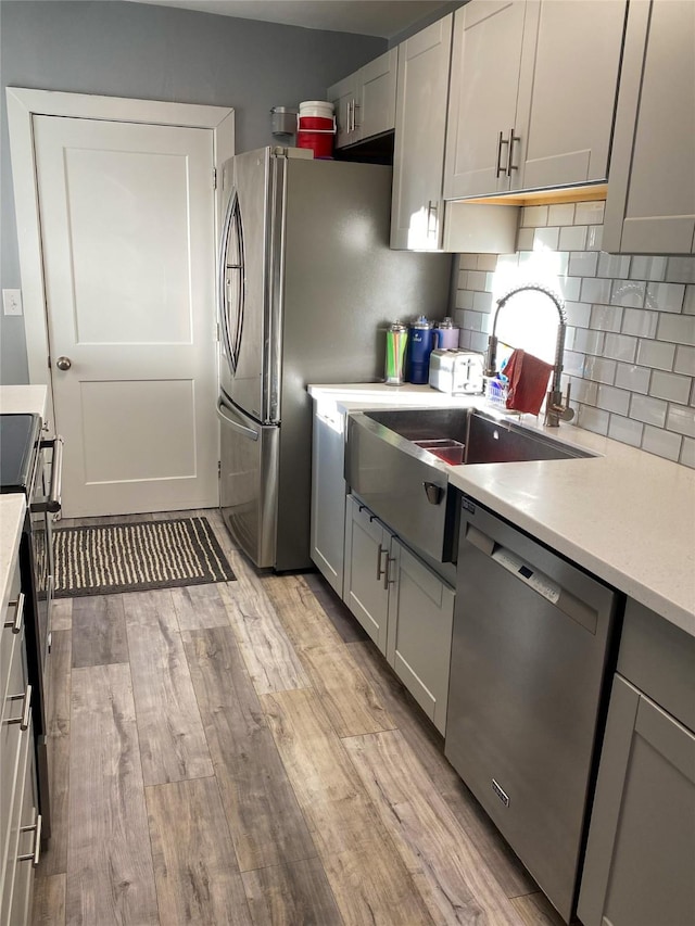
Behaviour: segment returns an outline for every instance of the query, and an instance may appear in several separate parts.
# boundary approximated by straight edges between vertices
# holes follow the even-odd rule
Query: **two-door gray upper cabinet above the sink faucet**
[[[624,13],[618,0],[456,11],[445,199],[606,180]]]

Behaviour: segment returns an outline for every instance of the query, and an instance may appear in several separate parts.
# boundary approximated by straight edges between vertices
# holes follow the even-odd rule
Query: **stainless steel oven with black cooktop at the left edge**
[[[54,568],[52,527],[61,510],[62,439],[43,436],[38,415],[0,415],[0,492],[22,492],[27,510],[20,545],[20,572],[25,595],[27,669],[42,836],[50,836],[50,794],[47,752],[49,654]]]

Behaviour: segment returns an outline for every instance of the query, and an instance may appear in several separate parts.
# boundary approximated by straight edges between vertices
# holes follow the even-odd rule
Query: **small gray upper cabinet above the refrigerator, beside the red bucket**
[[[394,128],[397,60],[393,48],[328,88],[328,100],[336,107],[337,148]]]

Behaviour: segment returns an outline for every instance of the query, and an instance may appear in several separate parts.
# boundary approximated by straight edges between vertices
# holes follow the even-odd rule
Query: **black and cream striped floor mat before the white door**
[[[236,578],[207,518],[56,528],[53,553],[56,598]]]

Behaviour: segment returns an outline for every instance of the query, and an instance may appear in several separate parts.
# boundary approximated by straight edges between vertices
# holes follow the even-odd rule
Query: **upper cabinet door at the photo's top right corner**
[[[631,3],[604,250],[695,253],[695,3]]]

